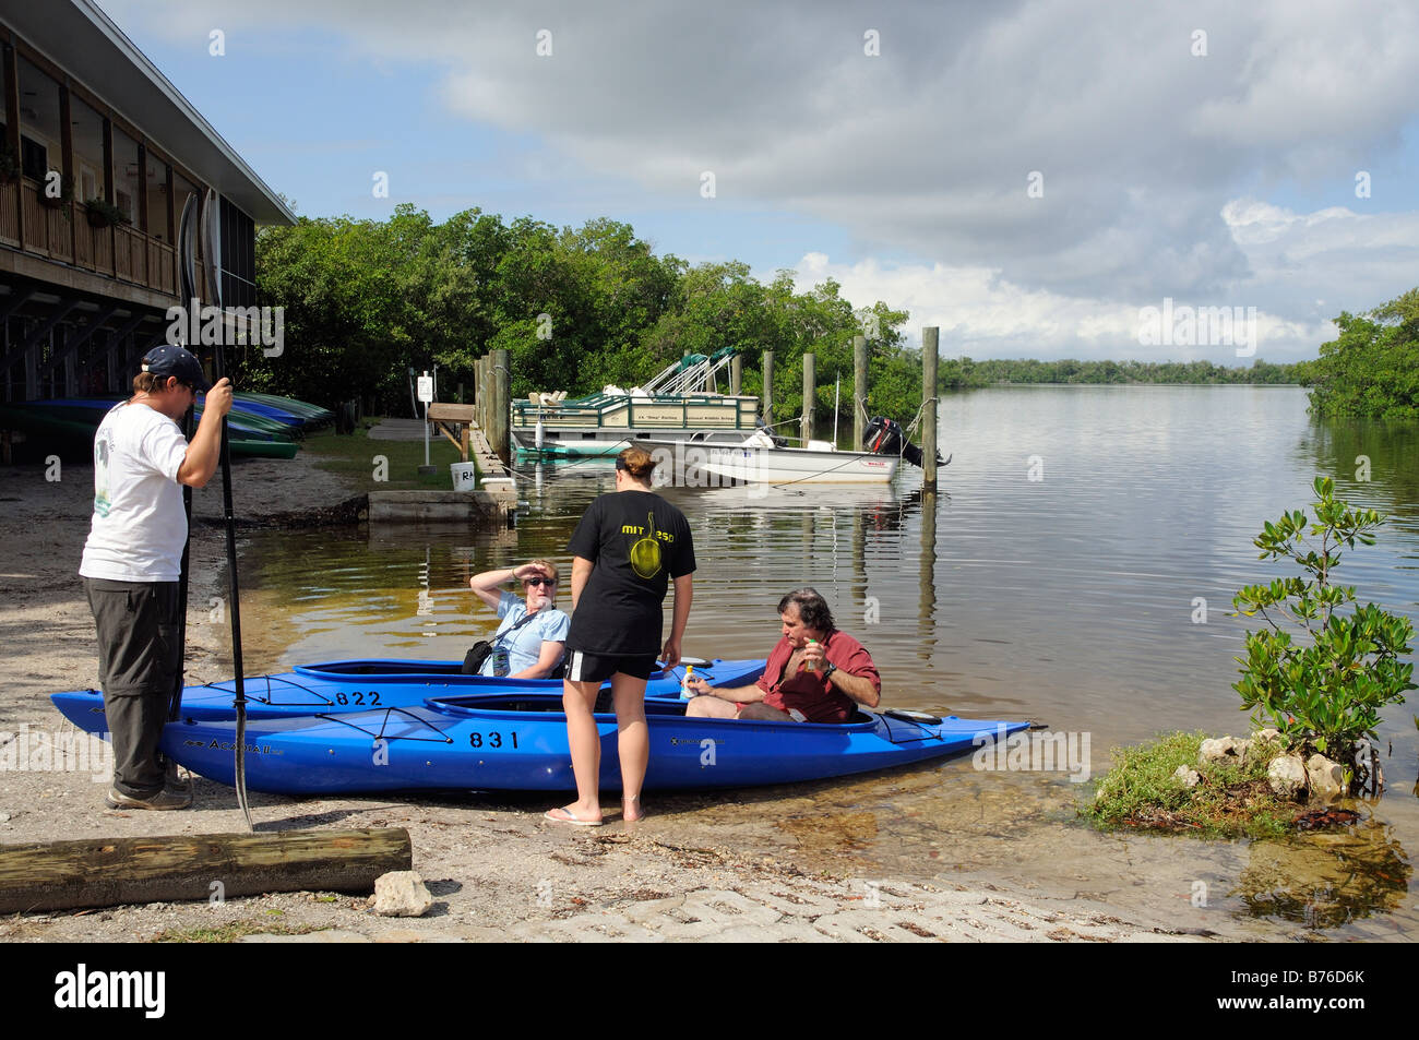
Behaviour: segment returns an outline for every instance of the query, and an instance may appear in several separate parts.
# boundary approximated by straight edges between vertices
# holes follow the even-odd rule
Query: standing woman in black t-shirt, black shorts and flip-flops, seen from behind
[[[578,799],[546,819],[593,827],[602,823],[602,745],[593,709],[602,682],[612,681],[626,822],[639,820],[640,786],[650,760],[646,682],[656,654],[666,668],[680,664],[680,640],[694,594],[695,549],[690,522],[650,491],[656,464],[640,448],[616,457],[616,491],[582,515],[566,551],[572,553],[572,627],[566,634],[562,705],[572,748]],[[675,607],[661,647],[661,604],[670,583]]]

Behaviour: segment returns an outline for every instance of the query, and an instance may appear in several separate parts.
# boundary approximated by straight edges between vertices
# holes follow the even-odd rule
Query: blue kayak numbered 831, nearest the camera
[[[864,773],[969,752],[1027,728],[860,711],[846,724],[685,718],[681,701],[647,699],[653,790],[744,787]],[[620,787],[616,718],[597,715],[600,786]],[[233,719],[172,722],[162,749],[221,783],[234,773]],[[417,789],[573,790],[562,698],[546,692],[430,698],[304,718],[253,719],[247,786],[281,795]]]

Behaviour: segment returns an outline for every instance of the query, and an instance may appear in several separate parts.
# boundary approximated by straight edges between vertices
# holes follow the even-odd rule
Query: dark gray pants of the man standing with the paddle
[[[98,626],[98,680],[114,742],[114,786],[131,797],[163,789],[158,742],[182,667],[177,582],[85,577]]]

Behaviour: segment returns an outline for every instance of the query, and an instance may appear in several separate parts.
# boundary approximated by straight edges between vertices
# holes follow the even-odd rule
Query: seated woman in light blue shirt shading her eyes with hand
[[[572,619],[552,606],[556,602],[556,565],[535,559],[518,568],[484,570],[468,579],[473,592],[495,607],[502,624],[492,637],[492,653],[478,668],[480,675],[548,678],[562,660],[566,630]],[[498,589],[504,582],[521,582],[524,599]]]

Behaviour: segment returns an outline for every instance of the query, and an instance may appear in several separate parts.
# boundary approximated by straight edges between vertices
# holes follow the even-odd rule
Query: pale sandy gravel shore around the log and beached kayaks
[[[27,728],[57,734],[62,719],[48,695],[95,685],[94,626],[77,576],[88,533],[92,472],[65,467],[0,468],[0,742]],[[250,460],[237,467],[236,511],[260,521],[292,502],[332,507],[356,489],[295,461]],[[197,492],[187,677],[228,678],[228,631],[209,620],[223,593],[220,478]],[[260,640],[261,633],[254,631]],[[244,640],[248,643],[248,640]],[[105,786],[88,773],[6,772],[0,779],[0,843],[199,834],[243,829],[230,787],[197,778],[196,804],[182,813],[106,810]],[[143,941],[199,928],[308,935],[265,941],[1176,941],[1162,921],[1117,917],[1117,908],[1076,892],[1027,894],[990,883],[891,883],[809,873],[792,861],[746,857],[685,841],[688,820],[663,813],[637,824],[613,817],[599,830],[542,819],[546,799],[292,800],[253,795],[261,830],[404,827],[414,870],[434,895],[417,919],[370,912],[363,898],[280,894],[221,905],[155,904],[0,919],[6,941]],[[654,812],[654,806],[647,806]],[[253,936],[260,938],[260,936]]]

